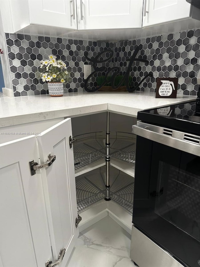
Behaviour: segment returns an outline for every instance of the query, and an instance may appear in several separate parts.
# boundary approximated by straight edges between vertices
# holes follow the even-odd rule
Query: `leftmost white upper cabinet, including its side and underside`
[[[77,29],[76,0],[0,0],[4,32],[58,36]]]

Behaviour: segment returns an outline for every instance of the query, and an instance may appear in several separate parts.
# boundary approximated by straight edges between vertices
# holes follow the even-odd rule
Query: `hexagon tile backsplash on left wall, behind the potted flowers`
[[[8,58],[12,76],[12,85],[15,96],[47,94],[47,84],[36,78],[40,67],[40,60],[48,59],[53,54],[57,59],[62,59],[69,71],[72,71],[72,82],[66,83],[64,92],[78,92],[84,90],[84,52],[89,52],[89,57],[96,56],[103,51],[102,42],[50,38],[44,36],[31,36],[24,34],[6,33],[8,45]],[[108,45],[107,45],[108,46]],[[113,44],[109,45],[113,47]],[[92,53],[90,51],[93,51]],[[112,60],[113,65],[114,59]],[[90,63],[91,64],[91,63]],[[104,63],[109,67],[110,63]],[[95,77],[89,83],[91,88],[96,87]]]

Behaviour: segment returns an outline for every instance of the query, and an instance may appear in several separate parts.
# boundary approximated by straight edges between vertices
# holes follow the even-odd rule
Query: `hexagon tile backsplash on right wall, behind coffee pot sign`
[[[178,94],[197,95],[197,74],[200,69],[200,29],[182,33],[154,36],[146,39],[120,41],[115,44],[115,65],[128,66],[129,52],[133,53],[136,45],[140,47],[138,58],[144,58],[147,63],[133,63],[130,75],[136,86],[148,72],[153,78],[147,78],[140,85],[140,91],[155,92],[157,77],[177,77]],[[124,65],[125,64],[125,65]]]

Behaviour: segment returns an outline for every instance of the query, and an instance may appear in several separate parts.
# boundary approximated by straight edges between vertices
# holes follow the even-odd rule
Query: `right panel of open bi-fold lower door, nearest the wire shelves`
[[[56,260],[60,249],[65,248],[62,266],[65,266],[79,234],[75,227],[78,214],[73,148],[70,149],[69,136],[72,136],[71,119],[37,136],[40,161],[46,162],[48,154],[56,156],[55,162],[42,170],[42,184],[53,252],[53,259],[49,260]]]

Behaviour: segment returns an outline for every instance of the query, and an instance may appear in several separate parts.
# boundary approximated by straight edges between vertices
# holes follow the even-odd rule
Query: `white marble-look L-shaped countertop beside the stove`
[[[0,127],[60,117],[74,117],[111,111],[137,116],[139,110],[162,107],[196,99],[196,96],[177,95],[176,99],[155,98],[149,92],[67,93],[63,97],[34,95],[0,97]]]

